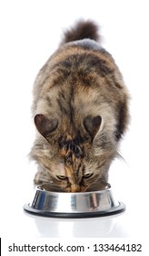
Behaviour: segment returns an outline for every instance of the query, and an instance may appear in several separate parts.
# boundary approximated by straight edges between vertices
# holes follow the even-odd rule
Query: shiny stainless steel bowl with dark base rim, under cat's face
[[[125,206],[114,199],[111,187],[94,192],[51,192],[36,187],[33,201],[24,206],[35,215],[53,218],[103,217],[123,212]]]

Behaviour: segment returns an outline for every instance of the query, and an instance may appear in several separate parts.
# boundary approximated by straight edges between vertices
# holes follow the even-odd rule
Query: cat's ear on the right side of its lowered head
[[[90,134],[92,139],[94,139],[96,133],[99,131],[101,123],[102,123],[102,118],[100,115],[97,115],[95,117],[88,115],[84,119],[84,128],[86,132]]]

